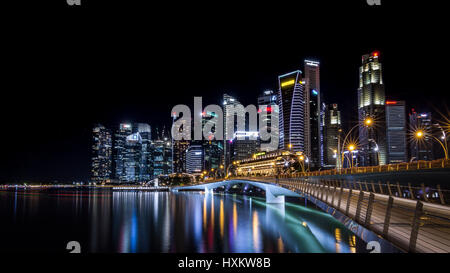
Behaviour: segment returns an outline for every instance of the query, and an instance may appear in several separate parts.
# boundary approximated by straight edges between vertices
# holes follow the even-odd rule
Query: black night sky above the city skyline
[[[224,92],[256,104],[305,58],[321,62],[325,102],[344,122],[357,118],[361,55],[373,50],[388,99],[450,105],[447,16],[430,1],[93,2],[15,6],[1,19],[0,183],[86,180],[93,124],[169,128],[174,105]]]

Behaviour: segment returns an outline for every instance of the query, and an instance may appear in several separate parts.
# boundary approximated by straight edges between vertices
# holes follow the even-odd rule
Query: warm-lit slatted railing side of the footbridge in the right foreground
[[[305,179],[278,183],[328,204],[405,251],[450,252],[447,206]]]

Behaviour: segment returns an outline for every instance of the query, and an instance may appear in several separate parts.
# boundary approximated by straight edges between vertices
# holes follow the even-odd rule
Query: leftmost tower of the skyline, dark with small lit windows
[[[112,174],[111,131],[98,124],[92,130],[92,138],[91,179],[96,183],[108,182]]]

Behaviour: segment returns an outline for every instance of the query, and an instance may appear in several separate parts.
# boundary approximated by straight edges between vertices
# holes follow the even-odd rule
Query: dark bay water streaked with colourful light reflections
[[[310,205],[236,194],[0,191],[0,215],[2,252],[365,252]]]

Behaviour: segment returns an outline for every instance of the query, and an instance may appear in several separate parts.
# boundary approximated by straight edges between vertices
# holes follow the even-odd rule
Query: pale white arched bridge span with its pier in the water
[[[172,188],[172,191],[184,190],[204,190],[205,193],[212,193],[212,191],[219,187],[231,187],[236,184],[249,184],[254,187],[263,189],[266,192],[266,203],[284,203],[284,197],[303,197],[301,194],[288,190],[286,188],[277,186],[272,183],[248,181],[248,180],[228,180],[208,184],[201,184],[195,186],[182,186]]]

